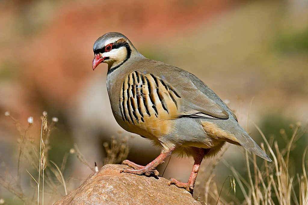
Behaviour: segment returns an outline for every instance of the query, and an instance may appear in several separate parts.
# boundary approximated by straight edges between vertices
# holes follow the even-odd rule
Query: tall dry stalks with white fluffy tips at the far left
[[[47,112],[43,112],[39,136],[40,143],[37,144],[34,136],[30,134],[30,129],[34,124],[33,117],[28,118],[28,127],[24,129],[9,112],[6,112],[6,116],[13,120],[19,132],[17,139],[19,147],[18,166],[17,176],[12,174],[14,173],[12,170],[6,168],[5,174],[1,174],[0,185],[21,199],[24,204],[44,204],[44,194],[48,195],[48,200],[45,201],[49,201],[55,195],[58,195],[59,183],[63,182],[57,177],[59,174],[62,175],[61,171],[52,168],[48,160],[48,152],[51,149],[49,146],[50,136],[55,129],[58,118],[53,117],[51,123],[48,123]],[[29,179],[32,180],[30,181],[30,186],[33,188],[32,195],[27,195],[28,190],[22,186],[21,176],[23,171],[26,171],[29,174]],[[54,181],[51,173],[56,176],[56,181]],[[36,174],[37,179],[35,179]]]

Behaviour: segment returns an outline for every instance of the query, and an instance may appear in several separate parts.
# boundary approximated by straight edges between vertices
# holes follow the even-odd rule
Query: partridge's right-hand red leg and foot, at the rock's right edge
[[[177,187],[184,188],[189,192],[193,192],[195,182],[196,182],[196,178],[197,178],[197,175],[198,175],[198,171],[199,171],[199,168],[200,168],[200,164],[201,164],[201,161],[202,161],[204,154],[205,154],[204,149],[200,148],[199,150],[200,151],[198,151],[197,154],[196,154],[195,164],[193,165],[193,170],[192,170],[192,173],[191,173],[191,175],[188,179],[188,182],[183,183],[183,182],[179,182],[176,179],[172,178],[172,179],[169,179],[169,183],[168,183],[169,186],[171,184],[175,184]]]

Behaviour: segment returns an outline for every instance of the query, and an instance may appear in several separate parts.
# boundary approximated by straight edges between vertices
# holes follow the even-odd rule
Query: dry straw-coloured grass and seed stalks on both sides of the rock
[[[29,131],[33,126],[33,118],[29,118],[29,125],[26,129],[22,128],[18,121],[6,113],[13,120],[19,132],[18,137],[18,170],[14,176],[12,171],[6,170],[0,175],[0,185],[9,190],[13,195],[22,200],[24,204],[51,204],[68,191],[67,184],[70,179],[63,176],[63,171],[68,158],[68,153],[63,157],[61,166],[58,166],[48,158],[48,151],[51,149],[49,145],[52,130],[55,129],[57,118],[53,118],[49,124],[47,113],[43,113],[42,124],[40,128],[40,142],[35,143],[34,137],[29,135]],[[254,123],[253,123],[254,124]],[[300,123],[291,127],[292,136],[286,136],[286,132],[280,131],[282,138],[286,141],[285,148],[279,148],[278,143],[274,140],[268,142],[261,129],[254,124],[265,141],[265,145],[261,144],[262,149],[270,153],[273,163],[264,160],[263,164],[257,165],[255,155],[245,153],[247,166],[247,179],[240,175],[232,165],[222,159],[227,147],[219,153],[216,158],[207,160],[207,166],[201,166],[196,183],[195,193],[201,193],[197,196],[197,200],[201,204],[308,204],[308,179],[305,166],[306,150],[302,155],[302,173],[291,175],[289,172],[290,152],[295,148],[295,143],[307,132],[308,126],[302,127]],[[121,135],[121,134],[120,134]],[[126,159],[129,151],[129,137],[112,137],[110,143],[104,143],[107,157],[104,164],[117,164]],[[266,148],[265,148],[266,147]],[[98,171],[97,166],[91,166],[77,145],[69,151],[71,155],[76,157],[85,166],[89,167],[93,172]],[[52,164],[51,164],[51,163]],[[225,179],[223,185],[217,185],[214,179],[214,170],[218,163],[222,162],[228,167],[233,175]],[[3,163],[2,163],[3,164]],[[25,166],[26,165],[26,166]],[[27,169],[26,169],[27,168]],[[21,173],[26,170],[29,173],[28,179],[33,193],[29,195],[29,191],[23,190]],[[36,179],[38,175],[38,179]],[[202,179],[202,180],[200,180]],[[33,183],[34,182],[34,183]],[[225,184],[229,184],[229,188],[225,188]],[[64,191],[63,191],[64,189]],[[235,193],[241,193],[244,200],[236,197]],[[45,199],[44,199],[45,197]],[[2,204],[4,199],[0,199]]]

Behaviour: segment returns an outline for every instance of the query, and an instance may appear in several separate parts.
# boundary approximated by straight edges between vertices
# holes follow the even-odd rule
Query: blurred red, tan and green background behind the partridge
[[[27,118],[33,116],[29,136],[38,143],[42,112],[48,112],[50,121],[57,117],[48,159],[59,166],[76,144],[91,166],[96,162],[101,168],[107,156],[104,143],[110,143],[112,136],[119,140],[128,136],[128,159],[137,164],[145,165],[159,155],[160,150],[148,140],[132,136],[116,124],[106,90],[107,64],[95,72],[91,69],[93,43],[112,31],[126,35],[145,57],[198,76],[228,103],[258,144],[263,140],[251,120],[282,147],[286,144],[283,132],[290,138],[296,124],[307,123],[306,0],[2,0],[2,176],[17,172],[20,149],[20,132],[5,112],[24,129]],[[294,173],[302,168],[307,133],[303,135],[291,153]],[[223,159],[241,170],[245,166],[243,153],[232,145]],[[161,165],[159,171],[167,179],[187,181],[192,166],[192,159],[172,156],[168,167]],[[206,166],[204,163],[205,170]],[[67,157],[63,174],[75,180],[71,190],[91,172],[76,156]],[[221,188],[231,171],[220,163],[214,172]],[[24,168],[21,173],[22,186],[30,186],[32,179]],[[245,170],[241,173],[246,174]],[[198,180],[202,182],[200,177]],[[63,195],[63,190],[59,192]],[[196,189],[195,195],[201,192]],[[1,186],[0,198],[8,204],[22,204]]]

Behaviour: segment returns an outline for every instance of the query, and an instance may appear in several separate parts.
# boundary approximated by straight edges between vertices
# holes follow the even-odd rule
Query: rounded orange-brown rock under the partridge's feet
[[[107,164],[54,205],[64,204],[201,204],[185,189],[162,177],[120,173],[126,165]]]

